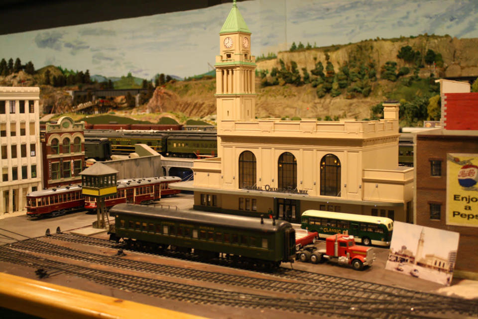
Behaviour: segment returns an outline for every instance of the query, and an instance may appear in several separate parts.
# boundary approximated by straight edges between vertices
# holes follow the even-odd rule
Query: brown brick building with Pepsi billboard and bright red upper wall
[[[415,138],[415,222],[459,232],[456,275],[476,277],[478,93],[444,93],[442,107],[445,129]]]

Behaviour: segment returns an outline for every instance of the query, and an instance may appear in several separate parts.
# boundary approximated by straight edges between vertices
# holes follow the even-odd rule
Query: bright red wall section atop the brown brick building
[[[478,130],[478,92],[445,94],[446,130]]]

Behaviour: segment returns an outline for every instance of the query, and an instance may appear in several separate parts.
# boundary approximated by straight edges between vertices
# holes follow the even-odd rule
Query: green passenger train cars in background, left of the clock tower
[[[113,131],[85,130],[87,138],[107,138],[113,154],[134,152],[135,144],[146,144],[167,157],[197,158],[217,155],[216,131]]]

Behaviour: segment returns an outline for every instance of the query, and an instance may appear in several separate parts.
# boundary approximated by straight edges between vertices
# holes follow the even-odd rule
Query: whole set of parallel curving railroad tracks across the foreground
[[[88,252],[88,247],[92,246],[102,247],[102,253]],[[64,234],[57,230],[56,234],[0,246],[0,261],[35,268],[39,277],[60,274],[77,276],[133,293],[197,304],[274,309],[340,318],[478,316],[478,301],[473,300],[287,268],[279,268],[270,274],[244,271],[244,275],[238,275],[238,272],[197,270],[160,263],[159,258],[155,263],[122,258],[122,250],[118,251],[121,248],[124,249],[121,243]],[[131,255],[126,249],[124,251],[128,256]],[[184,255],[180,257],[188,258]],[[175,280],[159,280],[154,276]],[[181,280],[188,284],[181,283]],[[197,284],[191,285],[191,281]],[[202,283],[231,288],[208,288],[203,287]]]

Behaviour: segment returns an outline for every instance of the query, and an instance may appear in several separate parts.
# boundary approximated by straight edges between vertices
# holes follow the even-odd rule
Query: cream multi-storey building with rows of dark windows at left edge
[[[37,87],[0,87],[0,218],[24,213],[26,194],[41,189]]]

